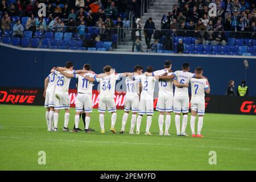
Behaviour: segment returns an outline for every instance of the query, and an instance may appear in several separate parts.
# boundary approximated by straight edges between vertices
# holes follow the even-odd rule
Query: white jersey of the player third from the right
[[[161,69],[154,72],[154,75],[162,76],[167,71],[165,69]],[[174,73],[168,73],[168,76],[171,76]],[[174,95],[174,89],[172,87],[173,83],[172,80],[159,80],[158,86],[159,86],[159,96],[173,96]]]

